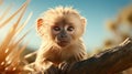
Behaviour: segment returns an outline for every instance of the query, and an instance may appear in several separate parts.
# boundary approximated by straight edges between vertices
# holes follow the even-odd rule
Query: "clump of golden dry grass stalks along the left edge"
[[[32,13],[30,13],[25,22],[22,25],[19,25],[28,7],[28,3],[29,0],[23,3],[23,6],[19,10],[16,10],[11,17],[0,23],[0,28],[3,28],[7,23],[10,23],[10,21],[13,20],[16,14],[20,14],[18,15],[18,20],[15,20],[15,23],[10,28],[6,38],[0,43],[0,74],[19,74],[22,70],[23,65],[21,61],[21,53],[26,47],[28,43],[25,43],[23,46],[20,46],[20,44],[22,43],[29,31],[18,40],[16,36],[26,25],[32,15]],[[1,17],[3,18],[4,15]]]

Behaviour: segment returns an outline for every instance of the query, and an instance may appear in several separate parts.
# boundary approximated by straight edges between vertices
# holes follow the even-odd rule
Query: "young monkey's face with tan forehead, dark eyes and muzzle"
[[[76,39],[80,38],[80,32],[82,34],[82,30],[79,30],[79,28],[81,28],[81,20],[74,14],[58,17],[55,19],[51,29],[52,40],[59,46],[67,46],[75,42]]]

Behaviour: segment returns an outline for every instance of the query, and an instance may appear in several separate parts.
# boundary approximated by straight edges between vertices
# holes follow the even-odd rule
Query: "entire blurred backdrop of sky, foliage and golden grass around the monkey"
[[[132,38],[132,0],[0,0],[0,74],[18,74],[34,61],[23,55],[41,45],[35,21],[58,6],[74,7],[87,19],[82,38],[88,56]],[[123,74],[132,74],[132,68]]]

